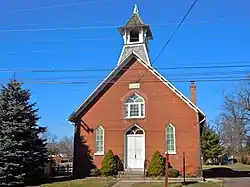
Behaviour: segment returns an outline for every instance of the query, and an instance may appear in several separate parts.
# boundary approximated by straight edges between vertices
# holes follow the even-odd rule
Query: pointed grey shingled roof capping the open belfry
[[[126,29],[140,28],[140,27],[145,28],[147,30],[146,33],[147,33],[147,38],[148,39],[153,38],[152,32],[151,32],[151,29],[150,29],[149,25],[143,23],[140,15],[139,15],[138,7],[135,4],[132,16],[130,17],[130,19],[128,20],[128,22],[124,26],[119,28],[119,31],[123,35],[124,31]]]

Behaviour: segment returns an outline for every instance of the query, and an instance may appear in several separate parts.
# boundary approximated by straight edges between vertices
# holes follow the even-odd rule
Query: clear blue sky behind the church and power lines
[[[135,3],[143,21],[152,25],[154,40],[149,48],[153,60],[193,0],[1,1],[0,69],[112,69],[122,49],[117,27],[129,19]],[[249,7],[248,0],[199,0],[153,66],[250,65]],[[159,71],[171,81],[211,79],[213,76],[223,80],[225,78],[221,77],[240,78],[249,70],[244,67]],[[16,77],[31,90],[32,101],[40,108],[39,123],[60,137],[73,134],[67,117],[108,73],[16,73]],[[11,76],[11,72],[0,72],[0,82],[6,83]],[[62,77],[89,83],[29,83],[34,79],[63,80]],[[173,83],[189,97],[189,83]],[[196,83],[197,105],[207,114],[208,120],[214,120],[219,114],[221,93],[237,84],[230,81]]]

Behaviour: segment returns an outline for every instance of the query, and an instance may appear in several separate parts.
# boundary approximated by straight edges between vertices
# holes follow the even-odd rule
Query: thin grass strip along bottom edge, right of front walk
[[[135,183],[131,187],[164,187],[163,183]],[[184,187],[181,184],[169,184],[169,187]],[[219,183],[196,183],[189,184],[187,187],[221,187]]]

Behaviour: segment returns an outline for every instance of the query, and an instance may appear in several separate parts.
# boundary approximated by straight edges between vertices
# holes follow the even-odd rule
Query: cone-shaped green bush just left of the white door
[[[112,150],[109,150],[102,161],[101,175],[104,176],[113,176],[117,173],[116,171],[116,160],[114,158],[114,153]]]

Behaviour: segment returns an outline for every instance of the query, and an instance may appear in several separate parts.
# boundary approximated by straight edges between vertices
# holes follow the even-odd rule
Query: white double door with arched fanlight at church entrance
[[[145,160],[145,132],[133,125],[124,133],[124,161],[126,170],[143,170]]]

